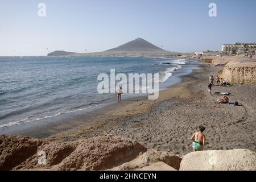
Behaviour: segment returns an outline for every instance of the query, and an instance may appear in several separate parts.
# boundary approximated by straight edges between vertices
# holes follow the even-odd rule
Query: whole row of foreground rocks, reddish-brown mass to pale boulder
[[[114,135],[75,142],[0,135],[0,170],[134,170],[156,162],[176,170],[256,170],[250,150],[191,152],[182,159]]]

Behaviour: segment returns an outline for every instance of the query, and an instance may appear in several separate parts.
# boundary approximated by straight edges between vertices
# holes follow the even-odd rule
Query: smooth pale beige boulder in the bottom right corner
[[[191,152],[180,164],[183,171],[255,171],[256,153],[245,149]]]

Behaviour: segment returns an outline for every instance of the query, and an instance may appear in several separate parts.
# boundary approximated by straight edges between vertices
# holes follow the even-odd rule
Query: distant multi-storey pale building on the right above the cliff
[[[224,44],[221,47],[221,51],[225,55],[240,55],[250,54],[255,55],[256,42],[255,43],[236,43],[236,44]]]

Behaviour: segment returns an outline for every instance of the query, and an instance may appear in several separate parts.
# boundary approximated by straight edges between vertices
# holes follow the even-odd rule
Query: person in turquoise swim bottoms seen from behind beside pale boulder
[[[199,131],[196,131],[196,133],[194,133],[191,137],[191,140],[193,140],[192,147],[194,152],[204,150],[204,146],[205,146],[205,135],[203,134],[204,130],[205,130],[204,126],[199,126]]]

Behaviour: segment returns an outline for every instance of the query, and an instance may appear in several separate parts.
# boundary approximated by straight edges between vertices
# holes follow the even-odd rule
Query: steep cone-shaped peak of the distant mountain
[[[165,51],[165,50],[161,49],[159,47],[156,47],[155,45],[147,42],[146,40],[144,40],[142,38],[138,38],[131,42],[123,44],[117,48],[109,49],[105,52],[131,52],[131,51],[160,52],[160,51]]]

